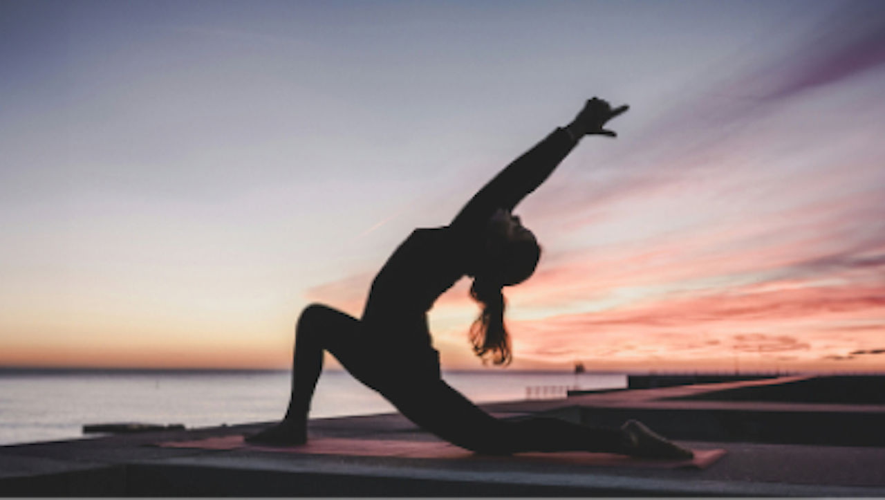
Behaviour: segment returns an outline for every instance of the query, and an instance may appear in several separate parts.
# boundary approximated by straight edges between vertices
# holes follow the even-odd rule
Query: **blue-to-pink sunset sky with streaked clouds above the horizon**
[[[878,0],[0,2],[0,365],[288,367],[591,96],[512,368],[885,371]]]

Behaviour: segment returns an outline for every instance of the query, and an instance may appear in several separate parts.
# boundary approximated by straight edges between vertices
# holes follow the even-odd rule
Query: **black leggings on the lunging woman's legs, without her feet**
[[[302,312],[296,326],[287,419],[306,418],[322,371],[323,350],[327,350],[358,381],[381,393],[406,418],[467,450],[501,454],[620,448],[621,434],[614,429],[550,418],[496,419],[440,379],[438,371],[435,376],[396,373],[396,379],[387,378],[371,356],[372,346],[366,345],[372,339],[361,333],[358,319],[324,305],[311,305]]]

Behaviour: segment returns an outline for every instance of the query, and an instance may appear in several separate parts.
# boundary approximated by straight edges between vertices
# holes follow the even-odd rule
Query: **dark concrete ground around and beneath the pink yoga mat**
[[[878,377],[781,377],[484,406],[504,418],[641,419],[691,448],[727,450],[704,470],[151,445],[250,434],[265,423],[0,447],[0,495],[885,496],[883,395]],[[436,441],[395,414],[313,420],[311,435]]]

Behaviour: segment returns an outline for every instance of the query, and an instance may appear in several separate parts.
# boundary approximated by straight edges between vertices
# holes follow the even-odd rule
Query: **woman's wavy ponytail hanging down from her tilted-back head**
[[[490,354],[495,365],[509,365],[512,360],[510,336],[504,327],[504,294],[501,286],[473,280],[470,296],[482,305],[482,312],[470,327],[473,352],[483,358]]]

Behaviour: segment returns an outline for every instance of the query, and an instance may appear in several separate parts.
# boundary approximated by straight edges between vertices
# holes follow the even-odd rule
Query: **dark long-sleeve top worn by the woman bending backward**
[[[489,219],[496,210],[512,211],[573,150],[576,142],[558,128],[507,165],[481,188],[448,226],[419,228],[390,256],[375,276],[362,323],[391,359],[436,363],[427,328],[427,311],[468,271],[481,251]]]

